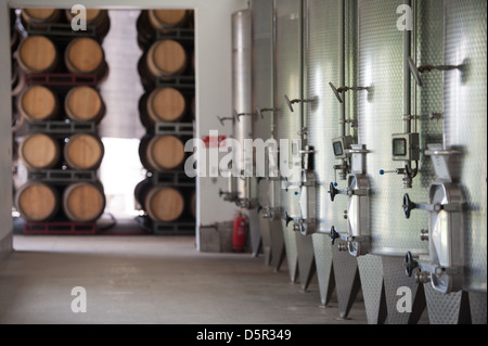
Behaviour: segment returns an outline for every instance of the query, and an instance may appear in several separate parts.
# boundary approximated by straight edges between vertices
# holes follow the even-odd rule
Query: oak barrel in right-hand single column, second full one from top
[[[153,123],[178,121],[185,111],[184,97],[175,88],[157,88],[149,95],[147,115]]]

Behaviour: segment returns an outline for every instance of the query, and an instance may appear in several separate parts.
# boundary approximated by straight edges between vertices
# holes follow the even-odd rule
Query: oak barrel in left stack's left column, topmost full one
[[[29,36],[17,50],[18,66],[29,74],[52,72],[59,62],[57,50],[44,36]]]

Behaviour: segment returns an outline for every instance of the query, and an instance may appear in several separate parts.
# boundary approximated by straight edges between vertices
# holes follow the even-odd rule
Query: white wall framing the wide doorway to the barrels
[[[216,115],[232,114],[231,14],[247,8],[246,0],[81,0],[73,3],[62,0],[0,0],[0,102],[10,104],[10,37],[8,7],[11,8],[70,8],[81,3],[87,8],[103,9],[195,9],[196,51],[196,134],[231,133],[230,124],[222,127]],[[136,66],[134,66],[136,68]],[[2,107],[0,116],[0,241],[11,234],[11,133],[10,107]],[[224,179],[198,178],[197,228],[231,220],[235,206],[218,196],[226,188]]]

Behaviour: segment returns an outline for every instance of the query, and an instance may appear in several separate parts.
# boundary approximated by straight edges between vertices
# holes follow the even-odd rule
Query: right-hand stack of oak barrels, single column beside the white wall
[[[184,175],[184,143],[193,137],[194,30],[188,10],[141,11],[138,43],[146,129],[139,154],[147,177],[134,190],[154,233],[193,233],[195,182]]]

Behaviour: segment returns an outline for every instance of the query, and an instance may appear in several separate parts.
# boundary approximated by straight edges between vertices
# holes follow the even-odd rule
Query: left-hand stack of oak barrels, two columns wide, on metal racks
[[[15,205],[26,233],[76,232],[87,225],[95,232],[105,208],[98,180],[104,148],[97,125],[105,113],[98,87],[108,73],[101,44],[110,18],[105,10],[87,10],[87,30],[75,31],[73,17],[69,10],[21,12],[27,35],[15,56],[25,86],[16,110],[26,129],[18,158],[28,180]]]

